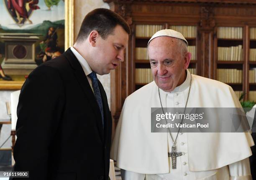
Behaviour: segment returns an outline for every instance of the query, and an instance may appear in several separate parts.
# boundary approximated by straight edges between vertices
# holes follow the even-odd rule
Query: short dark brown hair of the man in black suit
[[[77,42],[85,40],[93,30],[97,30],[100,37],[106,39],[109,34],[113,33],[117,25],[120,25],[128,34],[131,33],[130,27],[126,21],[112,10],[105,8],[92,10],[84,17],[77,35]]]

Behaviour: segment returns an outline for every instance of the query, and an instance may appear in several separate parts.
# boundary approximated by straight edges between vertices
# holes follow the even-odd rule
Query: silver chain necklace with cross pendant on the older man
[[[188,95],[187,95],[187,101],[186,101],[186,105],[185,105],[185,109],[184,109],[183,114],[185,113],[186,108],[187,108],[187,102],[188,102],[188,99],[189,99],[191,84],[192,84],[192,75],[190,74],[189,92],[188,92]],[[158,95],[159,95],[159,100],[160,100],[161,108],[162,108],[162,111],[163,111],[163,114],[164,114],[164,108],[163,108],[162,101],[161,101],[161,96],[160,96],[159,87],[158,87]],[[167,123],[166,118],[165,118],[165,122],[166,122],[166,125],[167,125],[168,123]],[[182,124],[182,123],[183,123],[183,118],[182,118],[181,124]],[[181,156],[181,155],[182,155],[181,152],[177,152],[177,150],[176,150],[176,143],[177,143],[177,138],[178,138],[180,129],[181,129],[181,127],[179,126],[178,133],[177,133],[176,138],[175,138],[175,140],[174,140],[174,139],[172,138],[172,133],[171,133],[171,131],[170,131],[170,128],[168,128],[168,131],[169,131],[169,134],[170,134],[170,136],[171,136],[171,138],[172,138],[172,143],[173,143],[173,145],[172,145],[172,151],[171,151],[171,153],[168,153],[168,157],[171,157],[171,158],[172,158],[172,169],[176,169],[176,159],[177,159],[178,156]]]

